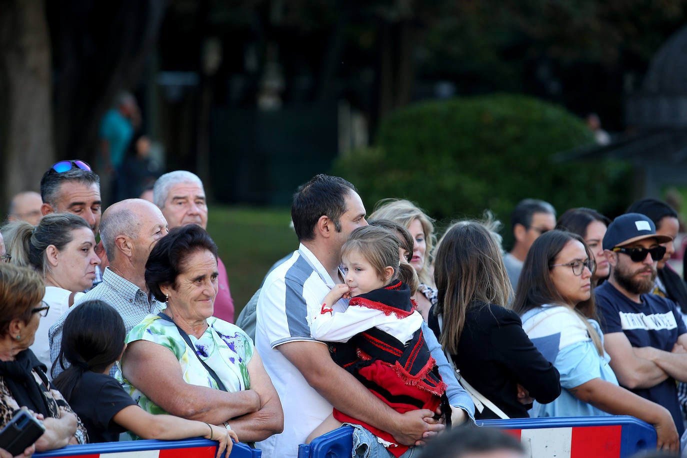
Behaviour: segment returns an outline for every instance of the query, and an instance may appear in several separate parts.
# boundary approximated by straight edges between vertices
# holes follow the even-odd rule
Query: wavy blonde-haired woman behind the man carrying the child
[[[418,312],[427,321],[429,309],[436,302],[436,287],[432,277],[431,251],[436,242],[433,219],[410,201],[383,199],[375,205],[371,220],[391,220],[408,229],[414,240],[410,264],[420,279],[418,293],[413,299],[418,303]]]

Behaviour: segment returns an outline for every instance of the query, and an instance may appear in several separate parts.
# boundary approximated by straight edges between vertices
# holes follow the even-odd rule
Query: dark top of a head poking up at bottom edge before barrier
[[[432,439],[419,458],[461,458],[469,453],[510,450],[525,454],[519,440],[498,428],[464,424]]]

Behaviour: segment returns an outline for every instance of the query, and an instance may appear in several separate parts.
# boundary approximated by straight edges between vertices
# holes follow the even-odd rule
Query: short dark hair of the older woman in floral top
[[[174,286],[183,263],[191,253],[210,251],[217,259],[217,245],[198,225],[175,227],[153,247],[146,262],[146,286],[150,296],[164,302],[160,286]]]

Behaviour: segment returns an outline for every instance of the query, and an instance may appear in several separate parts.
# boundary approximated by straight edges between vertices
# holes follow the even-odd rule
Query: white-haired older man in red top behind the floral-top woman
[[[167,219],[169,229],[188,224],[207,229],[207,201],[201,179],[186,170],[174,170],[155,181],[153,202]],[[229,292],[227,268],[217,257],[219,290],[214,301],[214,317],[234,323],[234,299]]]

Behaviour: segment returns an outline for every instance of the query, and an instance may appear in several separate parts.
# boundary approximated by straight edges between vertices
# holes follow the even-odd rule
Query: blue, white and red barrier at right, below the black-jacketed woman
[[[521,440],[537,458],[627,458],[656,448],[653,426],[627,415],[605,417],[515,418],[478,420]],[[350,458],[351,426],[330,431],[298,447],[298,458]]]

